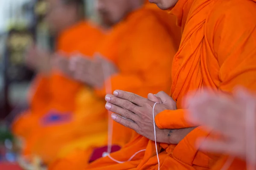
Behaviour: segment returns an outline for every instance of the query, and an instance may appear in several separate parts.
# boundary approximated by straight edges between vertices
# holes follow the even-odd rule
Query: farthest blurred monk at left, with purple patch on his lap
[[[38,48],[29,53],[29,65],[38,75],[30,92],[30,108],[18,116],[13,123],[13,133],[25,142],[24,156],[39,156],[43,163],[51,162],[58,151],[70,140],[81,136],[102,133],[106,136],[107,119],[104,102],[99,100],[88,86],[72,78],[69,71],[69,57],[80,53],[92,57],[104,33],[97,26],[84,19],[83,0],[48,0],[47,21],[50,30],[57,36],[56,51],[53,54]],[[35,57],[35,59],[33,59]],[[85,100],[94,113],[93,121],[98,128],[84,129],[90,124],[88,112],[75,110],[80,104],[80,91],[86,91]],[[93,103],[93,105],[92,105]],[[89,138],[89,137],[88,137]]]

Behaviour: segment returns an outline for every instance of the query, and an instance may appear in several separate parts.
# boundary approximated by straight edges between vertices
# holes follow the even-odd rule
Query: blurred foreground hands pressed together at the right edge
[[[209,138],[198,139],[200,144],[198,147],[201,150],[230,155],[229,160],[231,160],[230,164],[233,163],[231,165],[233,167],[237,167],[238,162],[234,157],[240,159],[240,162],[246,160],[247,164],[255,169],[256,100],[245,89],[240,88],[233,94],[232,99],[222,93],[212,94],[204,90],[200,94],[188,96],[188,121],[213,128],[216,133],[225,137],[217,141]],[[239,169],[245,170],[246,167]]]

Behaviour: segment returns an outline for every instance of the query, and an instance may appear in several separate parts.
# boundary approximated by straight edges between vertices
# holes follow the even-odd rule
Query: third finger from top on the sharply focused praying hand
[[[120,108],[119,106],[112,105],[111,103],[107,102],[105,108],[111,112],[118,113],[119,115],[123,116],[126,119],[130,119],[133,122],[137,122],[138,116],[131,111],[128,111],[124,108]]]

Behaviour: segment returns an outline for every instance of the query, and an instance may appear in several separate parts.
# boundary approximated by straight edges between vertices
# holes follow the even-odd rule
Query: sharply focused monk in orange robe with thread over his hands
[[[112,119],[140,136],[93,162],[88,170],[210,169],[221,155],[201,151],[195,142],[199,137],[215,135],[186,121],[184,96],[202,87],[226,93],[232,93],[236,85],[256,90],[255,0],[150,2],[162,9],[171,8],[182,29],[180,48],[172,62],[171,96],[160,92],[146,99],[121,90],[108,94],[106,108],[114,112]],[[129,160],[143,149],[145,154]]]

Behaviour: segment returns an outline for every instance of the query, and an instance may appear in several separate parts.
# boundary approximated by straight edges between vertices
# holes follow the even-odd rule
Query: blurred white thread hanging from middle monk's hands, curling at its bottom
[[[102,71],[103,71],[103,77],[105,82],[106,94],[112,94],[111,79],[109,79],[107,75],[107,73],[110,72],[109,70],[110,70],[109,66],[105,67],[104,63],[102,63]],[[122,163],[125,163],[125,161],[118,161],[110,156],[111,149],[112,149],[112,136],[113,136],[113,120],[111,119],[111,114],[112,114],[111,111],[108,111],[108,152],[103,153],[102,157],[108,156],[112,161],[122,164]],[[143,151],[145,151],[145,149],[139,150],[138,152],[134,153],[134,155],[131,156],[131,158],[129,158],[127,161],[131,161],[134,158],[134,156],[136,156],[138,153]]]

